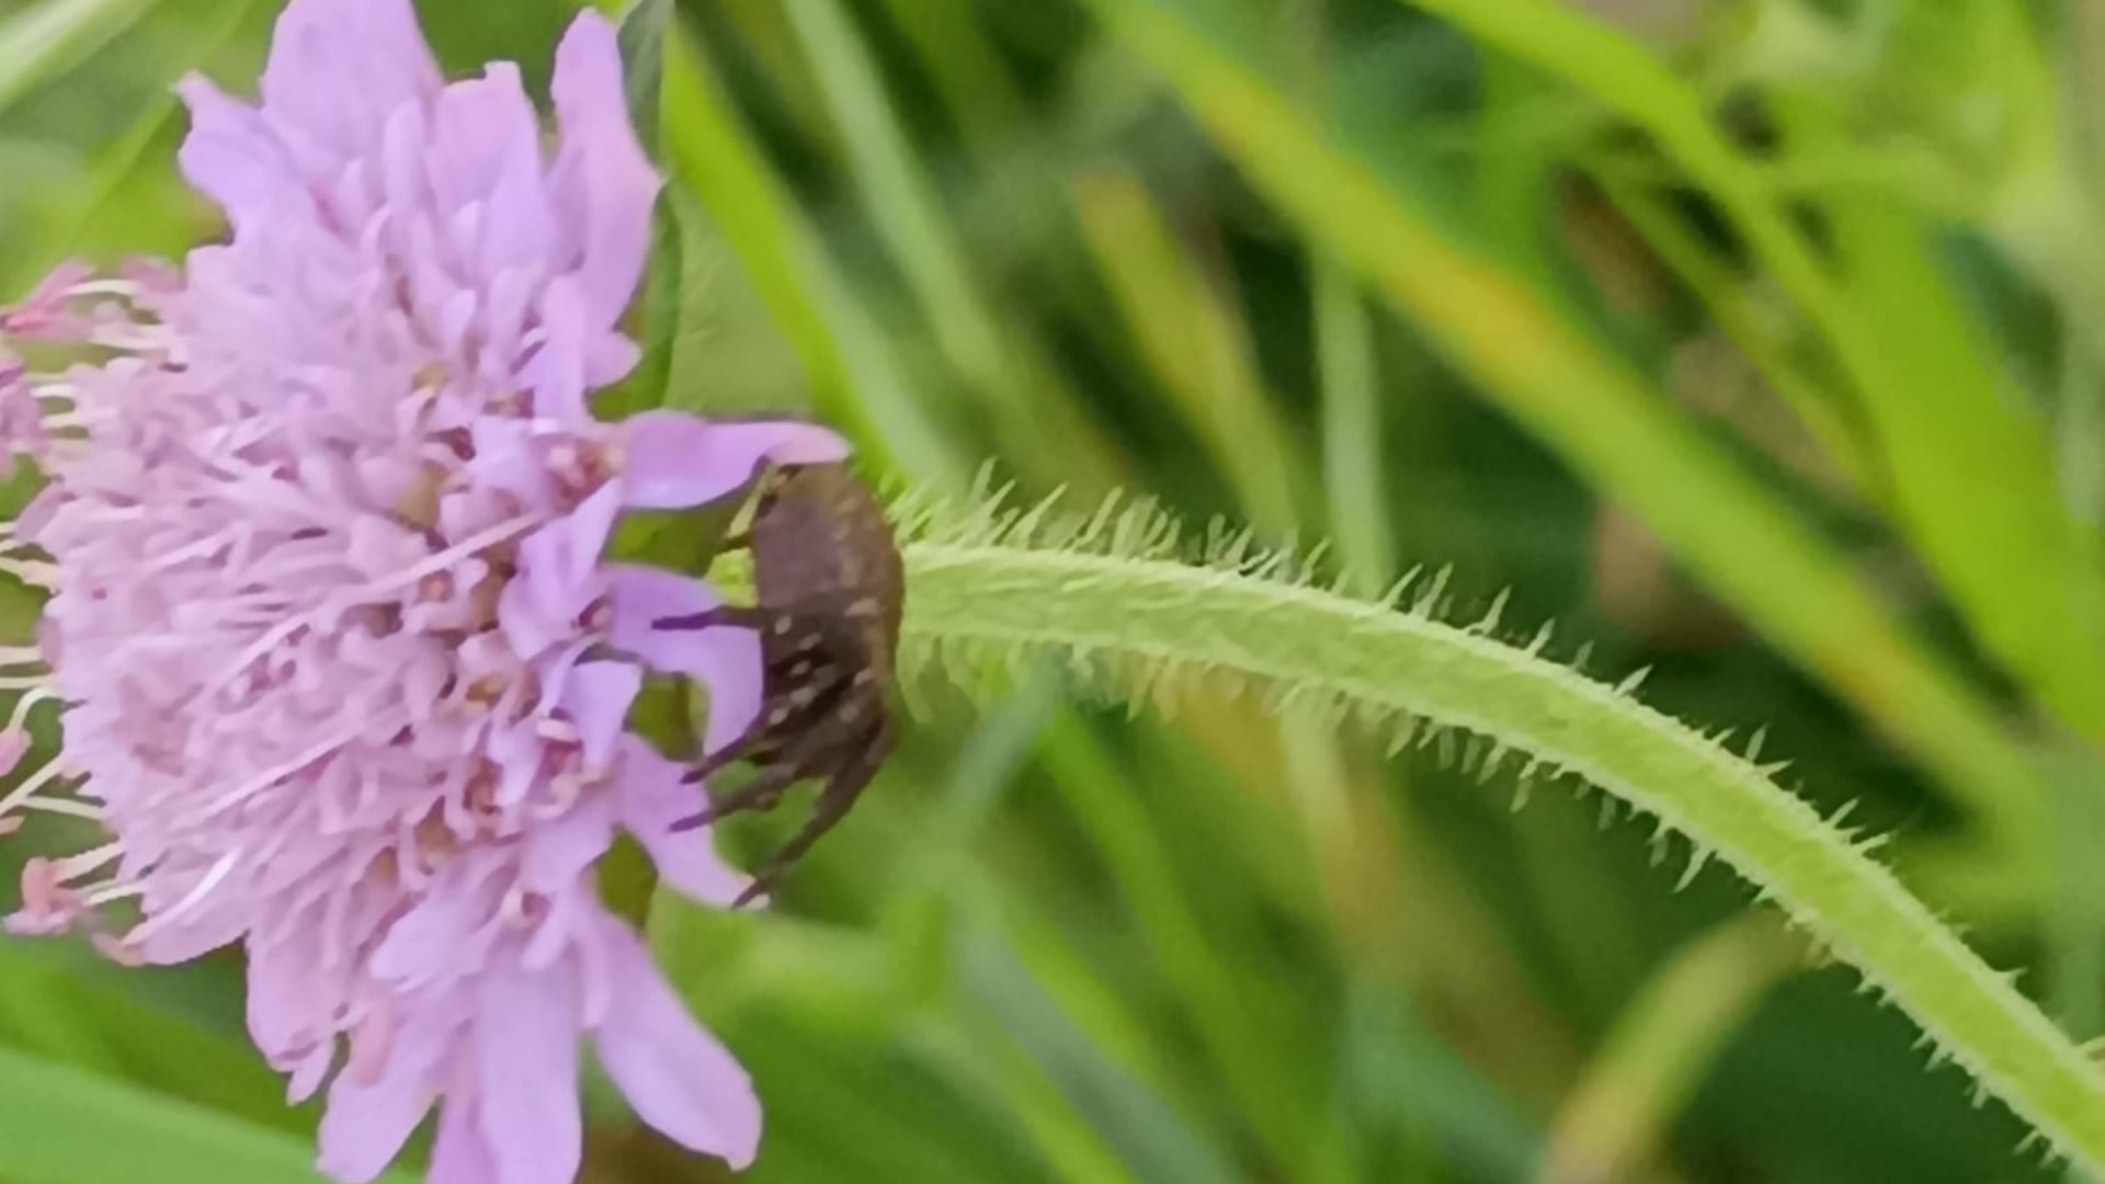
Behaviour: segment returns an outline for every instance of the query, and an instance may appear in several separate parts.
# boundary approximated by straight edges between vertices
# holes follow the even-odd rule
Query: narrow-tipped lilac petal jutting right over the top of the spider
[[[644,411],[623,421],[629,436],[627,504],[684,510],[716,501],[754,478],[762,461],[827,463],[848,442],[794,419],[711,421],[682,411]]]

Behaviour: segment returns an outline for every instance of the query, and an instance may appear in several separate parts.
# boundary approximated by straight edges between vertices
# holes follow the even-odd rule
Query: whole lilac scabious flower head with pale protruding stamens
[[[655,632],[718,600],[600,558],[625,508],[844,455],[798,423],[596,421],[659,179],[585,15],[558,143],[512,65],[448,84],[408,0],[295,0],[261,101],[187,80],[187,179],[227,242],[181,268],[61,270],[0,314],[0,434],[48,485],[0,569],[51,588],[0,649],[25,718],[61,710],[0,826],[78,815],[15,931],[179,963],[240,942],[248,1028],[290,1096],[328,1091],[320,1163],[368,1180],[436,1104],[432,1180],[566,1184],[585,1037],[642,1119],[733,1165],[760,1112],[602,904],[617,828],[661,881],[743,879],[680,767],[625,733],[646,670],[709,691],[705,744],[758,710],[758,638]]]

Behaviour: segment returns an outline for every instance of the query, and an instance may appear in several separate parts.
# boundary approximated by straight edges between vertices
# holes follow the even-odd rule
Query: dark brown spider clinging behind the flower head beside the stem
[[[884,508],[844,466],[785,466],[760,480],[751,527],[726,546],[754,554],[751,607],[661,617],[661,630],[743,626],[760,632],[760,714],[686,780],[749,761],[754,780],[716,798],[680,830],[766,811],[783,790],[825,777],[810,820],[747,885],[733,908],[766,893],[855,805],[893,750],[886,693],[899,647],[905,579]]]

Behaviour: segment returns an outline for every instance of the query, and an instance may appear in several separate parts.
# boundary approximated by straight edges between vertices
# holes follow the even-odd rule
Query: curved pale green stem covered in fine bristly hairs
[[[964,674],[979,659],[1052,651],[1120,693],[1240,676],[1286,702],[1484,735],[1497,752],[1530,756],[1530,769],[1577,775],[1657,815],[1688,836],[1697,862],[1718,853],[2063,1155],[2105,1167],[2105,1074],[1867,857],[1867,843],[1724,744],[1488,628],[1250,575],[1250,563],[1147,558],[1164,554],[1160,539],[1132,546],[1116,529],[1101,548],[1082,537],[1061,550],[1031,539],[1029,525],[985,527],[905,546],[909,670]]]

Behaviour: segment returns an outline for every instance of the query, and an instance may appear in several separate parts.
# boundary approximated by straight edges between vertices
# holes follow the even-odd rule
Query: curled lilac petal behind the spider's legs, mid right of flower
[[[760,634],[737,626],[661,630],[661,617],[686,617],[722,605],[707,584],[638,565],[606,565],[615,596],[613,643],[665,674],[686,674],[709,691],[703,752],[718,752],[760,716]]]

